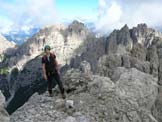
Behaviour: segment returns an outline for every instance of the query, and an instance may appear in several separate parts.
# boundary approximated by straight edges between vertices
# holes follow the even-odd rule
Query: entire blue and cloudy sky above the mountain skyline
[[[0,33],[71,22],[93,23],[107,33],[146,23],[162,28],[162,0],[0,0]]]

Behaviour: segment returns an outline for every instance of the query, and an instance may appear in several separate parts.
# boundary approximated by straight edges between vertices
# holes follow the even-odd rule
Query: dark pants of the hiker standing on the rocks
[[[52,94],[53,83],[55,83],[54,86],[56,86],[56,84],[58,84],[61,94],[64,94],[64,87],[63,87],[62,81],[60,79],[60,74],[58,72],[46,73],[46,74],[47,74],[47,83],[48,83],[49,94]],[[53,82],[53,80],[55,80],[55,82]]]

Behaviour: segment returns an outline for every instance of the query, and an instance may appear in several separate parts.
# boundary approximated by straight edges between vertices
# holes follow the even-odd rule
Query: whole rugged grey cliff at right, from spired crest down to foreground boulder
[[[160,83],[161,42],[162,34],[148,28],[146,24],[139,24],[133,29],[128,29],[125,25],[121,30],[112,32],[107,38],[106,53],[110,60],[118,61],[116,65],[135,67],[140,71],[153,74],[159,77]],[[114,56],[116,54],[118,56]]]

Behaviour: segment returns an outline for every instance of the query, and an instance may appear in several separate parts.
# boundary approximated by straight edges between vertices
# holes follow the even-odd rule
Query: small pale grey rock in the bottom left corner
[[[0,122],[9,122],[10,118],[5,108],[5,97],[0,91]]]

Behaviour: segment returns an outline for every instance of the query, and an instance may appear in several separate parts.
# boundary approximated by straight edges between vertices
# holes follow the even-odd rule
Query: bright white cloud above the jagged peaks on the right
[[[146,23],[150,27],[162,27],[161,0],[99,0],[96,31],[102,33]]]

